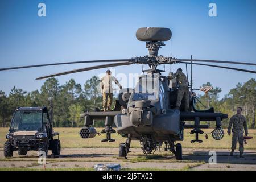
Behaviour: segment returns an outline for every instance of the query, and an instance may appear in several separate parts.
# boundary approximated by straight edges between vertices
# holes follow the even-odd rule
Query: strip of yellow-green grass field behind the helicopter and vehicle
[[[210,133],[213,129],[204,129],[205,133]],[[91,139],[82,139],[79,135],[79,128],[55,128],[55,131],[60,133],[61,147],[67,148],[85,148],[85,147],[104,147],[104,148],[115,148],[119,146],[119,143],[125,142],[126,138],[121,137],[118,134],[112,134],[112,138],[115,142],[102,143],[101,140],[105,138],[105,134]],[[101,131],[97,128],[97,131]],[[180,142],[183,144],[183,148],[224,148],[228,149],[231,146],[232,136],[225,134],[221,140],[214,140],[211,135],[208,139],[205,139],[205,135],[200,135],[200,139],[203,139],[203,143],[191,143],[192,139],[195,139],[195,134],[189,134],[190,129],[185,129],[184,141]],[[8,132],[7,128],[0,128],[0,147],[3,147],[5,142],[5,136]],[[226,133],[226,129],[225,129]],[[253,139],[248,140],[245,148],[256,149],[256,130],[249,130],[249,135],[253,136]],[[131,147],[141,147],[138,141],[132,141]]]

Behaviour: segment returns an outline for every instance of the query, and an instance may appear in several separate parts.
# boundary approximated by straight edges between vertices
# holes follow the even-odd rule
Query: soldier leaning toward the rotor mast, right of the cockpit
[[[171,73],[171,76],[167,76],[168,79],[172,80],[177,78],[177,83],[179,84],[179,90],[177,94],[177,101],[175,109],[180,109],[180,104],[182,99],[185,100],[185,112],[189,109],[189,98],[188,98],[188,81],[187,76],[182,72],[182,69],[177,69],[176,73]]]

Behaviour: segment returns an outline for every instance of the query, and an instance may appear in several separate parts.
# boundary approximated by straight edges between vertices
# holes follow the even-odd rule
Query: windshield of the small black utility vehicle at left
[[[10,131],[42,131],[41,111],[16,111]]]

